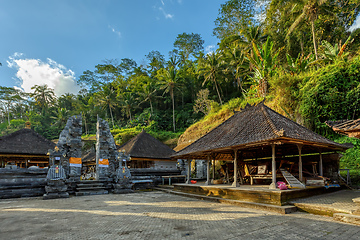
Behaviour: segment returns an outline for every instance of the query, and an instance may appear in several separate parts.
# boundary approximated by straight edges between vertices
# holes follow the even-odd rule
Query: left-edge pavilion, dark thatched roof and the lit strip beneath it
[[[45,167],[49,163],[47,152],[54,147],[55,143],[32,129],[24,128],[0,137],[0,162],[15,162],[21,167]]]

